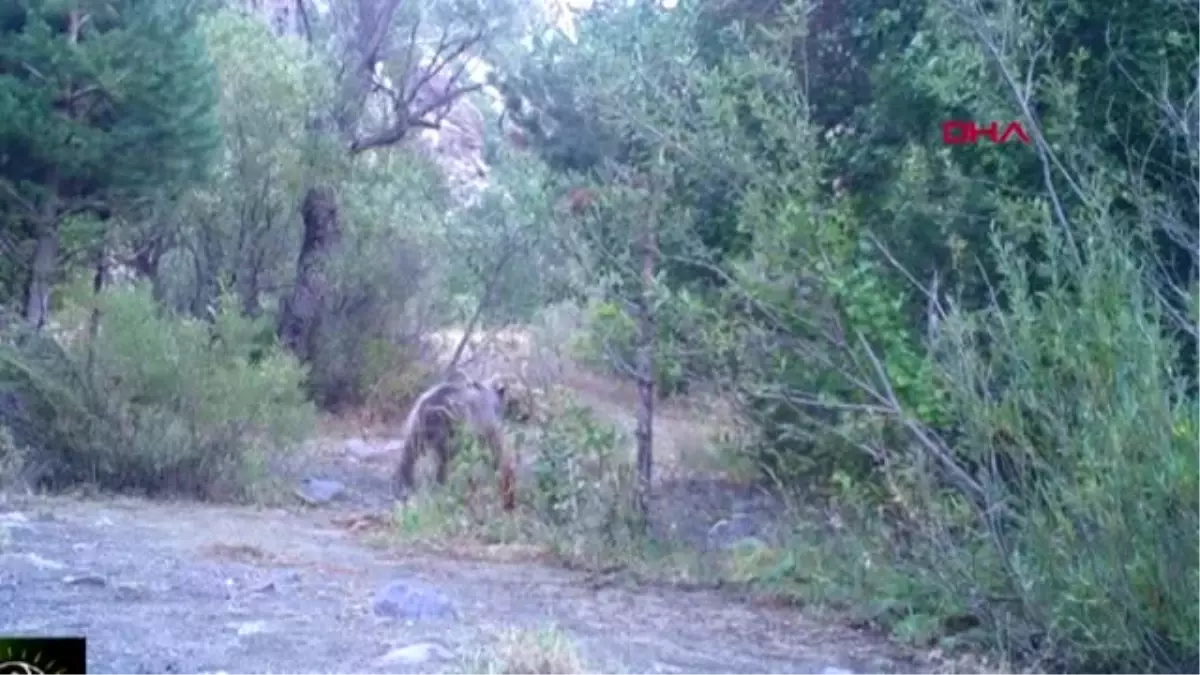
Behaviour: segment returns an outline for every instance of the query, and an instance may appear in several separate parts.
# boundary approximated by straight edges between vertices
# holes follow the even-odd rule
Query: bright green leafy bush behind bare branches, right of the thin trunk
[[[892,432],[876,412],[883,389],[869,390],[880,371],[919,419],[946,417],[911,298],[848,204],[817,208],[762,180],[742,217],[763,249],[740,270],[716,331],[737,345],[737,402],[758,436],[749,453],[775,483],[806,494],[835,474],[872,479],[876,458],[863,447]]]

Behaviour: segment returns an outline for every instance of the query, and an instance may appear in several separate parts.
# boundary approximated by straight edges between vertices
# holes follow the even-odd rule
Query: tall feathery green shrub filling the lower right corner
[[[892,562],[920,589],[902,602],[1069,671],[1174,671],[1200,650],[1200,405],[1148,243],[1105,216],[1037,234],[1037,265],[996,240],[1002,305],[942,324],[953,448],[929,436],[888,468],[911,516]]]

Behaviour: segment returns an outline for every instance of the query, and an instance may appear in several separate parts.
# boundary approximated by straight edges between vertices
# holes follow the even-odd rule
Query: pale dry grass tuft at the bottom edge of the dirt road
[[[509,631],[491,647],[468,656],[461,675],[589,675],[570,638],[557,629]]]

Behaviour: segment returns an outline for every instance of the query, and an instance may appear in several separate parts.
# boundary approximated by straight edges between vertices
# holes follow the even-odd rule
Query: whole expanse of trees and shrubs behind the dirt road
[[[630,443],[538,417],[556,527],[636,537],[594,516],[653,490],[655,405],[710,396],[722,453],[838,514],[739,581],[1051,671],[1190,673],[1196,7],[553,18],[4,2],[0,478],[245,498],[319,411],[402,411],[428,334],[568,324],[640,402]],[[454,130],[454,161],[422,141]]]

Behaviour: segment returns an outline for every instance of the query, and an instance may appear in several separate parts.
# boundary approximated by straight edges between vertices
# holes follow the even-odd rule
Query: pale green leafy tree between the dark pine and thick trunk
[[[208,316],[228,285],[242,311],[257,315],[294,274],[295,203],[312,166],[326,159],[304,129],[331,78],[302,41],[275,38],[257,17],[215,12],[202,31],[220,80],[220,159],[204,184],[146,209],[130,228],[128,250],[170,306]]]

